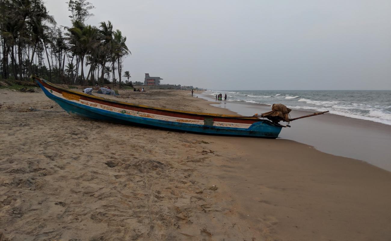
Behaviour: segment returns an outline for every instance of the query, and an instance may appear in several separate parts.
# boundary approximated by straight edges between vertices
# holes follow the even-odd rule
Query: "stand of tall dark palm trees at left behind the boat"
[[[0,0],[0,72],[3,79],[28,80],[37,74],[50,82],[80,85],[113,84],[131,54],[126,36],[113,24],[85,23],[95,8],[86,0],[69,0],[69,27],[58,27],[43,0]],[[105,78],[106,76],[106,78]]]

